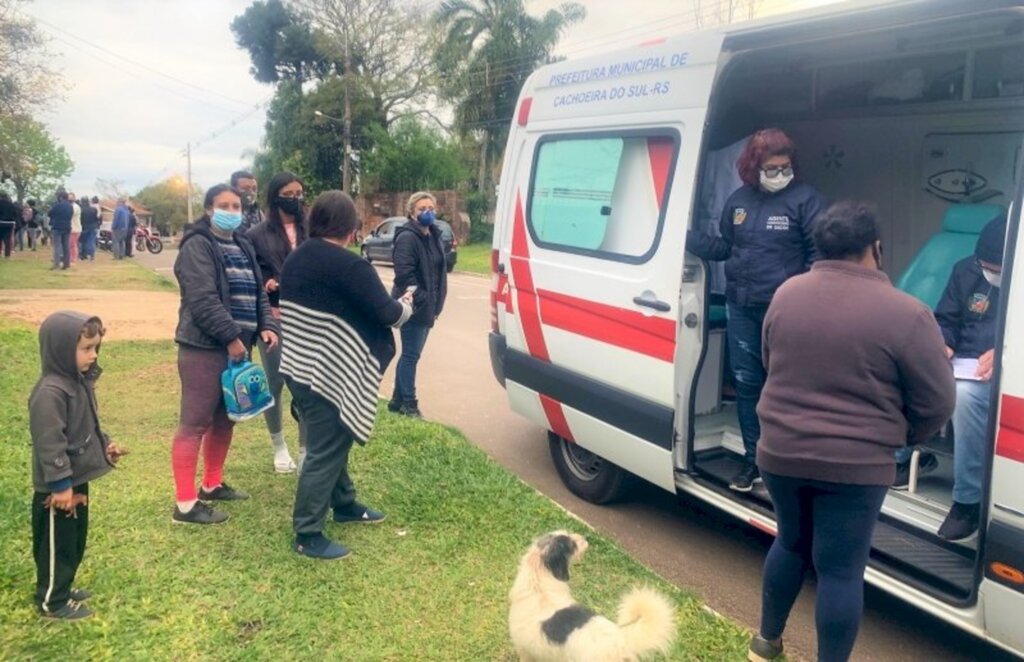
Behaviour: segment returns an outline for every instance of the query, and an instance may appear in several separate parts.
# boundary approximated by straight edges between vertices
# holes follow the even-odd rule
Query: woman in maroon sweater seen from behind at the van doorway
[[[758,467],[778,535],[765,558],[752,660],[781,655],[786,618],[811,567],[818,660],[849,658],[895,450],[937,432],[954,405],[932,312],[881,271],[872,209],[833,205],[815,222],[814,244],[821,259],[786,281],[765,316]]]

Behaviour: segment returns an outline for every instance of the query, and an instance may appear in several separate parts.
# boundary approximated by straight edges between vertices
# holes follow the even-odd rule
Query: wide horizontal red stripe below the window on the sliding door
[[[672,363],[676,323],[566,294],[540,290],[544,324]]]

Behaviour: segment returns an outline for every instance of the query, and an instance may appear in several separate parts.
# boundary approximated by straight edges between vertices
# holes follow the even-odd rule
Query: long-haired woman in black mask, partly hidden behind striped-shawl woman
[[[256,250],[256,261],[263,274],[263,290],[270,302],[270,314],[274,319],[281,319],[281,272],[285,259],[306,239],[306,226],[302,214],[303,197],[302,180],[291,172],[279,172],[270,179],[266,190],[266,220],[253,225],[246,237],[253,243]],[[282,425],[282,400],[285,379],[281,376],[281,344],[273,347],[259,343],[259,355],[263,360],[263,369],[270,384],[274,405],[263,413],[266,429],[270,432],[270,444],[273,447],[273,470],[278,473],[291,473],[296,469],[295,462],[288,452],[285,443],[285,431]],[[299,465],[305,459],[306,438],[305,427],[299,422]]]

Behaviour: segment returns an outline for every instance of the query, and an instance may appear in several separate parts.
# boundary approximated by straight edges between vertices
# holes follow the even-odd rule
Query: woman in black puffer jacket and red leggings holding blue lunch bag
[[[242,198],[227,184],[206,193],[206,214],[181,239],[174,276],[181,290],[178,376],[181,413],[171,448],[174,471],[174,522],[219,524],[227,514],[205,501],[234,501],[249,495],[223,481],[224,461],[234,423],[227,417],[220,376],[228,361],[246,358],[258,336],[278,344],[278,323],[270,315],[252,244],[237,233]],[[196,467],[203,450],[203,485],[196,490]]]

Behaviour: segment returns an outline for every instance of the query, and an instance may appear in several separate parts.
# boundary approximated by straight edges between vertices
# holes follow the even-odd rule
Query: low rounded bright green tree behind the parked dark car
[[[469,176],[459,147],[415,117],[370,132],[374,147],[360,155],[359,164],[368,191],[451,189]]]

